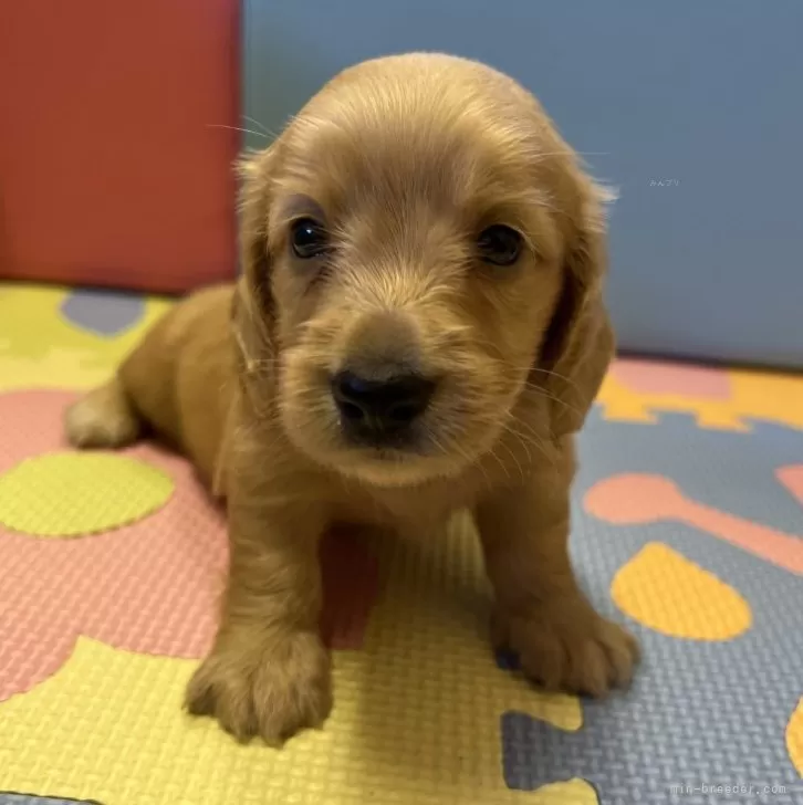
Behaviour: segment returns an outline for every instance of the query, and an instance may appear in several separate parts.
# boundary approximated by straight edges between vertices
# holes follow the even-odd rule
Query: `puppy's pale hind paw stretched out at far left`
[[[115,375],[67,408],[64,428],[73,447],[117,448],[137,440],[143,421]]]

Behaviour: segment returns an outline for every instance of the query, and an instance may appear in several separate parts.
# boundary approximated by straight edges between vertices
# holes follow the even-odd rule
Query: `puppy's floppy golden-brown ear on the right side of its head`
[[[604,205],[615,196],[585,177],[580,181],[580,203],[564,255],[563,290],[535,373],[550,397],[554,437],[583,426],[614,354],[602,285],[607,269]]]

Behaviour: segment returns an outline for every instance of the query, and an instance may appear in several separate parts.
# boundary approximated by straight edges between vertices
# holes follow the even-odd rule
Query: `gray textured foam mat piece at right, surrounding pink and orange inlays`
[[[682,523],[612,525],[587,514],[585,493],[620,472],[670,478],[696,500],[803,536],[803,512],[774,479],[803,462],[803,432],[755,422],[751,433],[707,431],[690,417],[608,422],[594,411],[581,439],[573,556],[601,610],[609,587],[647,542],[663,542],[736,587],[752,628],[727,642],[679,640],[630,623],[644,660],[626,694],[584,701],[584,724],[563,732],[524,713],[502,717],[508,785],[533,790],[582,777],[601,805],[736,802],[741,794],[674,794],[672,786],[752,785],[752,802],[803,803],[784,732],[803,694],[803,583],[799,576]],[[785,792],[761,793],[761,786]]]

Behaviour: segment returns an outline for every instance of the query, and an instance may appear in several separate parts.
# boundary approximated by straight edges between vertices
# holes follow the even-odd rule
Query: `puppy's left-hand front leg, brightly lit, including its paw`
[[[187,690],[191,713],[239,740],[270,744],[317,726],[332,708],[330,657],[319,632],[322,583],[314,506],[230,501],[231,566],[211,655]]]

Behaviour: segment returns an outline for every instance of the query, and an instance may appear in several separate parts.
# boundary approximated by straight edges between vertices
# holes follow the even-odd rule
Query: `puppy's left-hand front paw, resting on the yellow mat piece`
[[[321,639],[294,632],[254,650],[225,641],[196,671],[187,709],[211,715],[239,741],[260,735],[279,745],[320,726],[332,709],[330,656]]]

